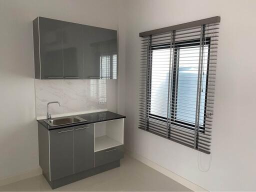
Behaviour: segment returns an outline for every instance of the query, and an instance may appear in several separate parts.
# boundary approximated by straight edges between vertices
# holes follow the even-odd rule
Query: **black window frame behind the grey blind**
[[[184,44],[186,43],[186,44]],[[205,120],[206,120],[206,108],[207,108],[207,91],[208,91],[208,72],[209,72],[209,60],[210,60],[210,37],[208,38],[205,38],[205,43],[203,43],[203,46],[205,45],[208,45],[208,55],[207,55],[207,69],[206,69],[206,86],[205,86],[205,98],[204,98],[204,117],[203,117],[203,125],[199,125],[199,132],[201,133],[204,133],[204,126],[205,126]],[[181,40],[181,41],[176,41],[175,43],[172,43],[172,47],[174,47],[174,52],[176,52],[174,54],[174,60],[173,60],[173,67],[175,68],[175,70],[173,70],[173,76],[172,76],[172,81],[174,81],[174,83],[172,83],[172,88],[171,88],[171,91],[173,92],[176,92],[175,90],[177,90],[178,86],[177,86],[177,82],[176,82],[176,79],[178,81],[178,67],[176,67],[178,65],[178,60],[177,59],[177,51],[180,50],[180,48],[184,48],[184,47],[191,47],[191,46],[198,46],[200,47],[200,39],[193,39],[193,40]],[[157,45],[150,45],[149,46],[149,58],[148,58],[148,65],[149,65],[149,80],[150,80],[150,83],[149,83],[149,88],[148,88],[148,91],[147,91],[147,94],[148,94],[148,111],[149,111],[149,119],[152,118],[152,119],[155,119],[155,120],[160,120],[160,121],[163,121],[163,122],[167,122],[167,118],[168,117],[163,117],[163,116],[160,116],[160,115],[155,115],[155,114],[152,114],[150,112],[151,110],[151,81],[152,81],[152,52],[153,50],[159,50],[159,49],[166,49],[166,48],[172,48],[170,47],[170,43],[163,43],[163,44],[157,44]],[[175,72],[175,75],[174,75],[174,72]],[[175,95],[175,97],[172,97],[170,98],[171,99],[171,103],[170,103],[170,108],[171,108],[171,118],[168,119],[171,124],[174,124],[178,127],[181,127],[181,128],[187,128],[187,129],[190,129],[190,130],[194,130],[194,127],[195,127],[195,124],[194,123],[188,123],[188,122],[184,122],[182,120],[176,120],[176,110],[174,109],[173,106],[176,106],[177,104],[177,94]],[[175,119],[175,120],[173,120]],[[191,128],[193,127],[193,128]]]

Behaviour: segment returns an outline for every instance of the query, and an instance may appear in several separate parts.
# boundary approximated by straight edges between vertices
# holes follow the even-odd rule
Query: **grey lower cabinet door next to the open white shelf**
[[[94,167],[94,125],[74,127],[74,172]]]

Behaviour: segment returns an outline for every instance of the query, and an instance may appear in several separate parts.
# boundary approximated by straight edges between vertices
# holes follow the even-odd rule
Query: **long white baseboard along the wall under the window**
[[[147,166],[150,166],[151,168],[159,171],[160,173],[168,176],[169,178],[177,181],[178,183],[184,185],[185,187],[191,189],[192,191],[208,191],[206,190],[205,188],[202,188],[200,186],[198,186],[197,184],[183,178],[182,176],[179,176],[177,175],[176,173],[174,172],[171,172],[170,170],[160,166],[159,164],[137,154],[137,153],[134,153],[134,152],[131,152],[130,150],[128,149],[125,149],[125,153],[127,153],[128,155],[130,155],[131,157],[139,160],[140,162],[146,164]]]

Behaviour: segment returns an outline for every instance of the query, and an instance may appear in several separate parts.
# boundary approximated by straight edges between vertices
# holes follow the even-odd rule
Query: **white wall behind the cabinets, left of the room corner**
[[[36,16],[117,29],[117,2],[0,0],[0,179],[38,167],[32,41]],[[116,91],[113,84],[110,89]],[[114,110],[114,101],[110,104]]]

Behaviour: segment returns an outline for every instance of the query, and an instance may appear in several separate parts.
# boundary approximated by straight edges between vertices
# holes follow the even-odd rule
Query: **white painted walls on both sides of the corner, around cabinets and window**
[[[118,29],[118,105],[112,100],[111,107],[127,116],[128,149],[209,190],[256,190],[255,6],[254,0],[0,0],[0,178],[38,167],[31,21],[40,15]],[[212,163],[200,172],[197,151],[137,128],[138,33],[216,15]],[[201,157],[205,168],[208,156]]]

